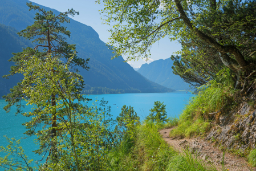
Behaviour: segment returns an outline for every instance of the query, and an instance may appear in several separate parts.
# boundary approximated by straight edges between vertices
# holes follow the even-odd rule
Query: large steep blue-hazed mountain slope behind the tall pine
[[[37,11],[29,11],[26,2],[30,1],[0,0],[0,23],[14,27],[18,31],[32,25]],[[36,3],[33,4],[36,5]],[[59,14],[59,11],[54,9],[41,7]],[[121,56],[111,60],[112,51],[99,39],[99,35],[92,27],[74,21],[74,19],[70,19],[70,23],[66,23],[64,26],[71,31],[71,37],[67,40],[68,43],[76,44],[78,56],[84,59],[90,58],[88,65],[90,70],[80,69],[80,74],[87,84],[86,93],[95,93],[95,89],[97,89],[97,93],[172,91],[172,89],[144,78],[133,70],[129,64],[124,63]],[[10,56],[3,56],[1,60],[6,61],[9,58]],[[2,72],[0,74],[3,75]]]

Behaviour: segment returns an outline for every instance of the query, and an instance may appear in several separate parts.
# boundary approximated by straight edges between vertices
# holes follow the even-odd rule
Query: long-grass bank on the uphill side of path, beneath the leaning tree
[[[221,79],[212,80],[209,85],[200,88],[201,91],[185,106],[170,137],[204,137],[210,130],[212,121],[218,121],[221,113],[230,110],[234,101],[234,89],[230,82],[220,82]],[[220,109],[220,112],[214,113]]]

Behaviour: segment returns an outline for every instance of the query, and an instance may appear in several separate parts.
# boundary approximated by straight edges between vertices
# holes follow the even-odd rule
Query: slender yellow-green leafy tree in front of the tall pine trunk
[[[44,124],[38,131],[34,132],[38,137],[40,149],[36,152],[41,154],[49,151],[46,162],[50,160],[52,163],[58,162],[60,155],[58,153],[58,146],[62,143],[59,137],[70,135],[70,146],[72,146],[72,153],[74,153],[76,168],[79,169],[78,155],[76,154],[75,132],[76,124],[79,122],[78,115],[84,110],[83,105],[75,103],[74,100],[85,100],[84,97],[78,94],[79,86],[82,77],[74,72],[68,70],[72,58],[69,62],[63,63],[59,56],[46,55],[45,58],[38,58],[38,56],[25,56],[25,59],[30,60],[21,61],[23,68],[19,69],[24,75],[22,86],[25,87],[22,93],[27,101],[27,105],[31,105],[33,112],[25,112],[23,115],[32,116],[29,122],[25,123],[26,128],[35,129],[37,125]],[[31,75],[31,73],[33,73]],[[52,105],[52,94],[55,94]],[[50,101],[50,102],[49,102]],[[54,113],[54,115],[52,115]],[[55,123],[52,123],[52,120]],[[53,127],[46,127],[49,123]],[[53,129],[56,134],[53,134]],[[54,132],[55,133],[55,132]]]

